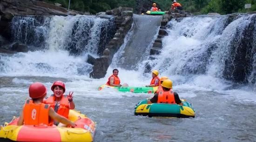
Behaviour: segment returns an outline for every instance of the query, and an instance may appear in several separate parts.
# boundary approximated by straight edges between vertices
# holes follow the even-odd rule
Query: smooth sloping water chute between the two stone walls
[[[111,68],[125,68],[128,70],[138,70],[142,65],[141,62],[149,56],[159,27],[162,16],[133,16],[134,23],[125,38],[124,44],[115,54]]]

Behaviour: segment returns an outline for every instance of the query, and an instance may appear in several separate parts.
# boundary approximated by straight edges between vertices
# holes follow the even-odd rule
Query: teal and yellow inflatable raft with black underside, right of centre
[[[147,104],[148,100],[144,99],[135,106],[135,115],[148,117],[178,117],[188,118],[195,117],[195,111],[192,104],[182,99],[182,105],[177,104]]]

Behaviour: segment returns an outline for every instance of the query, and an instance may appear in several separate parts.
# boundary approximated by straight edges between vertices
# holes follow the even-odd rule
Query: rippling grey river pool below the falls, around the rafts
[[[128,80],[120,71],[120,78],[134,82],[134,86],[148,84],[149,80]],[[212,91],[200,87],[174,86],[180,98],[192,102],[195,118],[149,118],[134,115],[134,106],[146,93],[120,93],[111,89],[97,90],[107,78],[92,80],[86,76],[56,78],[47,76],[1,77],[0,123],[19,116],[21,106],[28,98],[28,86],[43,82],[48,94],[54,80],[64,80],[67,93],[74,91],[77,110],[97,122],[95,142],[110,141],[256,141],[256,104],[254,94],[241,90]],[[128,83],[129,83],[128,82]],[[241,96],[241,97],[240,97]],[[248,98],[247,98],[248,97]],[[255,98],[254,98],[255,99]]]

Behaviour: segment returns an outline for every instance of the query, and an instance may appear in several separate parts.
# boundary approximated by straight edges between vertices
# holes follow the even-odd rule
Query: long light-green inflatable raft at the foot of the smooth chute
[[[117,91],[120,92],[132,92],[132,93],[154,93],[157,89],[157,87],[131,87],[131,86],[108,86],[108,85],[101,85],[99,86],[98,90],[102,90],[103,88],[114,88]]]

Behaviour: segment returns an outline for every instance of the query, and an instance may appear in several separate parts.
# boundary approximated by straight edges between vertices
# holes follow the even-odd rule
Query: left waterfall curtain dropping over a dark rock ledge
[[[15,16],[11,29],[13,42],[32,48],[100,55],[115,34],[115,23],[114,19],[84,15]]]

